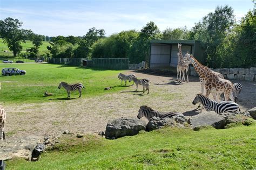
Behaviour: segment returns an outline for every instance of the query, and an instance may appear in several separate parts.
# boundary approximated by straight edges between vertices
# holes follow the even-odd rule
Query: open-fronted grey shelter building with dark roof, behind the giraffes
[[[183,56],[186,52],[201,63],[205,62],[204,50],[200,41],[196,40],[151,40],[150,41],[150,68],[176,67],[178,64],[178,44],[181,44]]]

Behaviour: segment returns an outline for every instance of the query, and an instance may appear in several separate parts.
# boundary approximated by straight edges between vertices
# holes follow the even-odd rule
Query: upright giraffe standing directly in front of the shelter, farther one
[[[188,82],[188,66],[190,65],[190,60],[184,60],[183,55],[181,53],[181,44],[178,44],[179,52],[178,55],[178,65],[177,65],[177,81],[182,82],[185,80],[185,71],[187,74],[187,82]],[[181,72],[182,72],[182,79],[181,79]],[[178,79],[179,76],[179,79]]]

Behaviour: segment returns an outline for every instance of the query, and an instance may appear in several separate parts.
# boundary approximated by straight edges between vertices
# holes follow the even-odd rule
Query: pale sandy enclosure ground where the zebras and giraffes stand
[[[105,131],[107,121],[120,117],[136,118],[139,107],[147,105],[160,111],[178,111],[185,116],[197,114],[192,101],[200,93],[198,77],[190,77],[190,82],[176,83],[175,76],[157,76],[135,73],[139,78],[148,78],[150,94],[142,95],[142,86],[128,86],[120,93],[99,97],[76,98],[74,100],[51,101],[48,103],[4,105],[7,113],[6,132],[9,139],[30,135],[43,137],[57,131]],[[238,81],[233,81],[238,82]],[[243,85],[238,96],[242,111],[256,107],[256,82],[239,81]],[[121,83],[121,82],[120,82]],[[118,84],[117,84],[118,85]],[[131,85],[131,83],[128,83]],[[107,87],[107,84],[106,84]],[[71,97],[77,93],[71,93]],[[212,96],[211,96],[212,97]],[[143,118],[146,121],[145,118]]]

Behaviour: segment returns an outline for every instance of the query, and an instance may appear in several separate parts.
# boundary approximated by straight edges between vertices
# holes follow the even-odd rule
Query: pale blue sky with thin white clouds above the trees
[[[160,31],[191,29],[218,5],[231,6],[237,21],[253,9],[252,0],[0,0],[0,19],[18,19],[23,29],[45,36],[83,36],[91,27],[110,36],[141,30],[150,21]]]

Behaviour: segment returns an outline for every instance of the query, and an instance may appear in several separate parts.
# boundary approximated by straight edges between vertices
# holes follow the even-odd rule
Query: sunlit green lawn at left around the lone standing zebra
[[[82,90],[82,98],[97,96],[119,91],[117,78],[120,70],[93,70],[75,66],[50,65],[50,64],[2,64],[5,67],[16,67],[26,70],[26,75],[1,76],[1,103],[41,103],[49,102],[49,99],[64,98],[68,96],[64,88],[58,89],[60,81],[70,84],[81,82],[85,89]],[[104,91],[105,87],[114,87]],[[53,93],[53,96],[43,97],[44,91]],[[71,92],[71,98],[77,98],[78,91]]]

